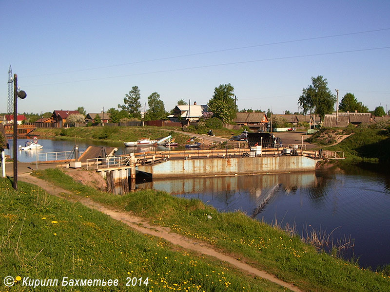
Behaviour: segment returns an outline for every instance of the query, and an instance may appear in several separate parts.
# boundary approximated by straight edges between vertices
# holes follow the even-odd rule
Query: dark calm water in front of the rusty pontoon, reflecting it
[[[347,257],[357,257],[364,267],[390,263],[389,175],[351,167],[347,172],[155,180],[139,187],[197,198],[222,212],[241,210],[268,223],[295,224],[301,235],[312,228],[334,230],[334,240],[351,235],[355,246]],[[270,199],[256,211],[265,198]]]

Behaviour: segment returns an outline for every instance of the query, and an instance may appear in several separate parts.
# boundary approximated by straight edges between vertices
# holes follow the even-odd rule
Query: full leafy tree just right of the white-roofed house
[[[229,84],[221,84],[215,87],[213,98],[209,100],[208,109],[214,112],[214,116],[224,122],[230,122],[235,118],[237,106],[234,102],[234,87]]]

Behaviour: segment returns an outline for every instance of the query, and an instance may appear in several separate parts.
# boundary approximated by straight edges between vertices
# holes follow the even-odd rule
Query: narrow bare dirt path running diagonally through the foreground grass
[[[20,181],[26,182],[26,183],[33,183],[41,188],[43,188],[46,192],[48,192],[51,195],[60,197],[61,199],[65,199],[61,196],[59,196],[59,193],[66,193],[66,194],[72,194],[70,191],[62,189],[58,186],[55,186],[51,183],[48,183],[47,181],[40,180],[36,177],[31,176],[29,173],[25,173],[19,176]],[[69,199],[67,199],[69,200]],[[234,267],[241,269],[247,273],[254,274],[256,276],[262,277],[264,279],[267,279],[273,283],[276,283],[282,287],[288,288],[295,292],[301,292],[300,289],[298,289],[296,286],[284,282],[282,280],[279,280],[272,274],[268,274],[267,272],[258,270],[246,263],[240,262],[236,260],[232,256],[224,255],[220,252],[215,251],[211,246],[209,246],[205,242],[196,241],[194,239],[181,236],[179,234],[171,232],[170,228],[168,227],[161,227],[161,226],[155,226],[150,225],[145,219],[139,218],[137,216],[134,216],[130,212],[124,212],[124,211],[118,211],[114,209],[107,208],[106,206],[92,201],[88,198],[80,198],[79,200],[70,200],[73,202],[80,202],[81,204],[87,206],[88,208],[98,210],[99,212],[102,212],[113,219],[116,219],[118,221],[121,221],[128,225],[129,227],[143,233],[143,234],[149,234],[156,237],[161,237],[175,245],[179,245],[183,248],[198,252],[200,254],[208,255],[216,257],[220,260],[223,260],[225,262],[228,262],[229,264],[233,265]]]

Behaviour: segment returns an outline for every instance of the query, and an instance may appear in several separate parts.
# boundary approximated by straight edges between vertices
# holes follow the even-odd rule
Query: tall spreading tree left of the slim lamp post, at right
[[[306,113],[316,113],[323,120],[334,109],[336,98],[328,88],[328,81],[321,75],[312,77],[312,84],[302,90],[298,105]]]

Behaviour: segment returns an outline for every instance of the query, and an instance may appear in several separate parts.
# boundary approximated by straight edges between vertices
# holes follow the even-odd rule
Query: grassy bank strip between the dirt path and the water
[[[363,292],[390,289],[390,277],[366,271],[355,263],[317,253],[299,237],[291,237],[282,230],[250,219],[242,213],[218,213],[213,207],[198,200],[176,198],[153,190],[115,196],[77,183],[58,169],[48,169],[36,175],[74,194],[88,196],[119,210],[133,211],[156,225],[167,226],[186,237],[206,241],[216,249],[233,254],[305,291]]]

